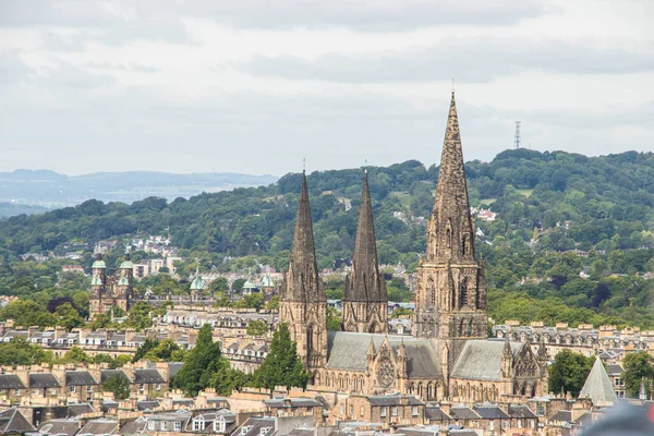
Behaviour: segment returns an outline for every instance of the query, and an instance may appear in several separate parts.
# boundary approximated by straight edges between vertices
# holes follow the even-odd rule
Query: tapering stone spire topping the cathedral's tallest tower
[[[455,93],[450,101],[436,201],[427,240],[427,258],[474,262],[474,229],[468,201],[468,185],[459,132]]]

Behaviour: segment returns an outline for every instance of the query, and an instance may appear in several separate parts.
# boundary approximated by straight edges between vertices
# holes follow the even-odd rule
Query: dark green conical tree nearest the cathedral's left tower
[[[280,323],[272,335],[270,352],[254,372],[254,384],[270,391],[277,386],[306,388],[308,374],[298,356],[296,344],[286,323]]]

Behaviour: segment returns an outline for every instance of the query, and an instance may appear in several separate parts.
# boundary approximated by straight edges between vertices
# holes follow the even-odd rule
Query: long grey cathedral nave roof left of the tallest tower
[[[400,335],[358,334],[350,331],[330,331],[327,340],[327,368],[366,371],[367,355],[362,352],[368,348],[371,339],[375,348],[387,338],[397,353],[402,341],[407,351],[407,374],[410,378],[439,377],[438,358],[428,339],[411,338]]]

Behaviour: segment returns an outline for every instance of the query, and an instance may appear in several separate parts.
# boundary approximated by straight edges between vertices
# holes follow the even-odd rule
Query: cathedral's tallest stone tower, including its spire
[[[487,338],[486,280],[474,256],[455,93],[449,108],[427,254],[417,270],[414,335],[440,339],[450,365],[468,339]]]

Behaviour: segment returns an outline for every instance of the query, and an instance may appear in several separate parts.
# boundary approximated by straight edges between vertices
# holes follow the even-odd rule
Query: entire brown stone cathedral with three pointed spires
[[[488,339],[486,280],[474,254],[474,237],[452,92],[426,256],[416,275],[413,336],[388,335],[388,296],[377,264],[367,173],[341,331],[327,331],[327,298],[318,276],[303,174],[279,311],[310,373],[308,389],[400,392],[461,402],[547,393],[544,344],[534,351],[529,343]]]

